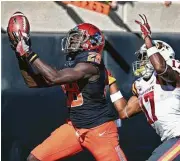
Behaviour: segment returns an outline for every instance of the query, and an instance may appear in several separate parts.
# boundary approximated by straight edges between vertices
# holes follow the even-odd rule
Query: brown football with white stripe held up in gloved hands
[[[22,12],[15,12],[9,19],[7,32],[11,41],[16,41],[13,36],[13,32],[19,36],[19,31],[21,31],[24,37],[28,37],[30,33],[30,24],[27,17]]]

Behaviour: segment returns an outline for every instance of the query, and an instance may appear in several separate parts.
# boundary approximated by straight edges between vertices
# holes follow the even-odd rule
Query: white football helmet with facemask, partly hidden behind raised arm
[[[169,44],[161,40],[153,40],[152,42],[155,44],[165,61],[175,58],[175,52]],[[134,75],[145,79],[150,78],[154,72],[154,67],[147,57],[146,45],[143,44],[140,50],[135,52],[135,55],[138,60],[132,63]]]

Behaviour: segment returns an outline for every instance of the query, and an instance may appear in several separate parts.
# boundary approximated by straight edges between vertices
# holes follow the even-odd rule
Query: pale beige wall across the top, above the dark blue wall
[[[138,14],[145,14],[148,17],[153,32],[179,32],[180,30],[180,21],[178,21],[180,2],[178,1],[173,1],[173,3],[171,1],[101,1],[97,3],[110,5],[112,9],[109,14],[99,14],[82,8],[90,4],[77,7],[75,6],[77,4],[65,5],[62,1],[2,2],[1,29],[6,30],[9,17],[19,10],[28,17],[32,32],[68,31],[81,22],[91,22],[103,31],[127,31],[128,29],[139,31],[138,25],[134,23]],[[92,10],[95,10],[96,6]]]

